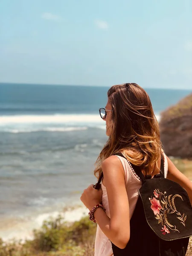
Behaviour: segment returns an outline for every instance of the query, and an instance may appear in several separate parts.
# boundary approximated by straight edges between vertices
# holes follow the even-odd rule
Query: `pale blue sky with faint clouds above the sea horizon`
[[[0,82],[192,89],[192,1],[2,0]]]

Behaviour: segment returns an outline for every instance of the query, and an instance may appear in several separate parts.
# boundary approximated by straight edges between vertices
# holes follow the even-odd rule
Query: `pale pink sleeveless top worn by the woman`
[[[163,153],[164,154],[164,153]],[[124,172],[125,172],[125,186],[127,190],[128,200],[129,200],[129,215],[130,219],[133,215],[137,199],[139,197],[139,189],[142,185],[142,182],[138,177],[136,177],[136,174],[131,169],[131,166],[129,165],[128,161],[124,157],[119,157]],[[167,171],[168,171],[168,162],[166,155],[164,154],[164,172],[165,177],[167,177]],[[108,194],[106,187],[101,182],[101,188],[102,188],[102,204],[104,205],[106,209],[106,214],[110,218],[110,211],[109,211],[109,203],[108,203]],[[112,256],[113,250],[111,247],[111,241],[108,239],[107,236],[102,232],[99,225],[97,224],[97,230],[96,230],[96,239],[95,239],[95,254],[94,256]]]

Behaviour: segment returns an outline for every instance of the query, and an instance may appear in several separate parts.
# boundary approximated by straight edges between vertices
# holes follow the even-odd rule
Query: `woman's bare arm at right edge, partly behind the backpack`
[[[181,173],[177,167],[172,163],[172,161],[167,157],[168,161],[168,173],[167,178],[169,180],[173,180],[180,184],[184,189],[186,189],[187,194],[189,195],[189,199],[192,205],[192,182]]]

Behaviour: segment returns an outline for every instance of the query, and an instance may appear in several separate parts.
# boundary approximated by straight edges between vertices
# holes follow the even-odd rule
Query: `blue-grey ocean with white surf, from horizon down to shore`
[[[48,214],[82,206],[81,193],[96,183],[94,163],[107,140],[99,108],[108,89],[0,84],[0,237],[29,236]],[[145,90],[157,119],[191,92]]]

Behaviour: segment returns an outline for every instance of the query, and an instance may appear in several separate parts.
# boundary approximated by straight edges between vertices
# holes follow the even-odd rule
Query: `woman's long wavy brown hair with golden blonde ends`
[[[111,134],[96,160],[94,175],[99,178],[102,162],[117,152],[140,166],[145,175],[152,174],[158,168],[162,145],[148,94],[138,84],[119,84],[108,90],[108,101]]]

